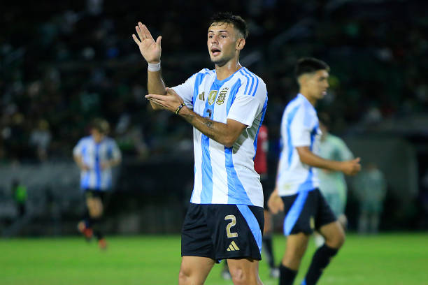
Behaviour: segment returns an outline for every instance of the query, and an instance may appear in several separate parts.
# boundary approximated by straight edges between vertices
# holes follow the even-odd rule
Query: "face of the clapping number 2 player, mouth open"
[[[241,50],[238,40],[242,40],[233,24],[213,23],[208,28],[208,52],[214,64],[223,66],[238,55]]]

